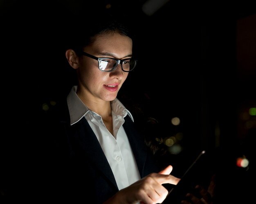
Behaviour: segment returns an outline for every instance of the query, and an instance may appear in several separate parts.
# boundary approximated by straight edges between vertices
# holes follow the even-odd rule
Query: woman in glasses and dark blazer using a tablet
[[[78,81],[51,130],[56,145],[48,192],[83,203],[162,203],[168,194],[162,184],[180,179],[170,175],[171,165],[157,165],[131,112],[117,99],[137,61],[126,27],[103,16],[79,30],[65,52]]]

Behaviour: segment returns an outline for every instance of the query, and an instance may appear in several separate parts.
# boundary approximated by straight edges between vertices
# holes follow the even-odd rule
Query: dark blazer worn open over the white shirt
[[[117,183],[89,123],[83,117],[70,125],[65,104],[57,111],[58,120],[51,123],[47,137],[49,147],[46,162],[48,195],[57,200],[100,204],[117,193]],[[128,136],[141,178],[160,169],[146,147],[144,138],[129,116],[124,129]],[[52,200],[52,199],[51,199]]]

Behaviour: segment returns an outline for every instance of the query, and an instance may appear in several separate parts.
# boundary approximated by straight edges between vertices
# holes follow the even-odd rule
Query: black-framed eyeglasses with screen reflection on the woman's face
[[[96,59],[98,61],[99,70],[102,72],[112,72],[119,64],[121,64],[121,68],[124,72],[130,72],[135,68],[137,63],[137,60],[132,58],[115,59],[110,57],[95,57],[85,52],[82,52],[82,55]]]

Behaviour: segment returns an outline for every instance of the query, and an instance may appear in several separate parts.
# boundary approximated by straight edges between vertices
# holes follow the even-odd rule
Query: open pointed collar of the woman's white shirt
[[[92,112],[76,94],[77,86],[73,86],[67,96],[67,106],[70,112],[70,125],[77,123],[88,112]],[[132,114],[126,107],[116,98],[111,101],[112,112],[122,117],[130,116],[133,121]]]

